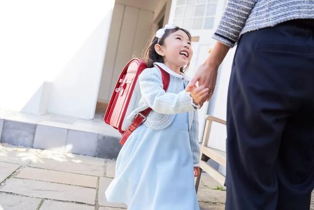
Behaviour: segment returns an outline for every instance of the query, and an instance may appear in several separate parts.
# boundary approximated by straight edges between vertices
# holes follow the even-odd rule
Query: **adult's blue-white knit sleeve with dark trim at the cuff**
[[[229,47],[234,47],[256,2],[257,0],[228,0],[212,38]]]

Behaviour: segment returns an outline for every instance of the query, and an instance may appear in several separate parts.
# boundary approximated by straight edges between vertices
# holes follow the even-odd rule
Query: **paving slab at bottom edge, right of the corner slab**
[[[95,210],[94,206],[45,200],[40,210]]]

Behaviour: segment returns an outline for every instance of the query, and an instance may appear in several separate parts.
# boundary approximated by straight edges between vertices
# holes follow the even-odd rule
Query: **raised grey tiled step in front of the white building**
[[[119,139],[103,114],[83,120],[0,110],[1,143],[115,159],[121,150]]]

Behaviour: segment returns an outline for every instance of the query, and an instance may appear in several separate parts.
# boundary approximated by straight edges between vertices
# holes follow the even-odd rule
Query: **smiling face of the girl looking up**
[[[155,45],[155,50],[163,57],[164,64],[177,73],[191,61],[193,55],[191,41],[183,30],[169,34],[163,45]]]

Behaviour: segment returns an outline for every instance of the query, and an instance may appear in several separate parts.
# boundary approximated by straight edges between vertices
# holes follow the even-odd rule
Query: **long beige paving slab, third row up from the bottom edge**
[[[49,181],[63,184],[71,184],[84,187],[97,187],[97,177],[73,174],[68,172],[58,172],[48,169],[24,168],[16,178]]]

